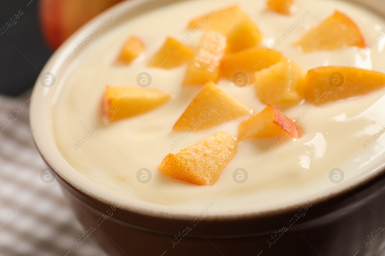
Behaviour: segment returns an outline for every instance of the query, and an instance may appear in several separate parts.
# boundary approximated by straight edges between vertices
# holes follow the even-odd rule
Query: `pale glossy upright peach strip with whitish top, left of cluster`
[[[203,85],[208,81],[217,81],[219,65],[226,50],[226,36],[213,30],[207,31],[201,38],[194,58],[187,66],[184,85]]]

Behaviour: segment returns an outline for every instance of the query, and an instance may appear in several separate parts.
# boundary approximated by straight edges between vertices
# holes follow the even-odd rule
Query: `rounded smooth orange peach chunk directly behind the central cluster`
[[[236,53],[259,45],[262,39],[261,32],[249,18],[239,22],[227,35],[229,53]]]

